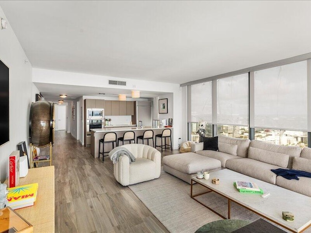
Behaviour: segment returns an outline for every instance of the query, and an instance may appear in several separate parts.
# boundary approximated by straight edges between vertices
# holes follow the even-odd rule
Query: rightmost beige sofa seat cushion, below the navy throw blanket
[[[277,176],[276,185],[311,197],[311,178],[309,177],[299,177],[299,181],[297,181]]]

